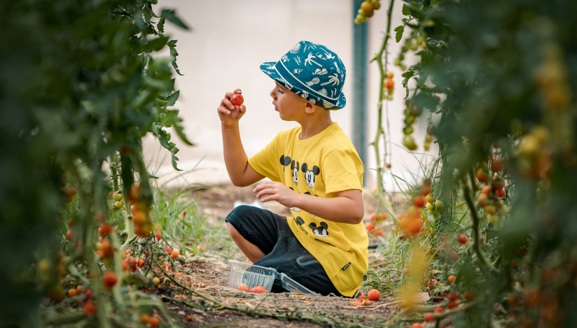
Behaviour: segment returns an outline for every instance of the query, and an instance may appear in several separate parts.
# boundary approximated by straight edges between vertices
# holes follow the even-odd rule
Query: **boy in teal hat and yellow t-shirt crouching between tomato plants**
[[[226,218],[228,233],[251,262],[286,273],[319,294],[353,297],[368,267],[363,221],[363,163],[331,111],[345,106],[345,66],[323,45],[301,41],[278,62],[260,66],[275,83],[270,92],[282,120],[299,127],[281,131],[250,159],[239,135],[246,110],[227,92],[218,106],[225,165],[232,183],[260,201],[291,209],[284,218],[238,206]],[[277,281],[273,292],[282,292]]]

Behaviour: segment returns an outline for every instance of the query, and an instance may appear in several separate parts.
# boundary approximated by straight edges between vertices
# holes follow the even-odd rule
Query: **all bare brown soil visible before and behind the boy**
[[[224,227],[225,216],[234,208],[235,201],[250,204],[255,200],[252,187],[234,187],[224,185],[211,188],[193,189],[190,192],[198,199],[201,211],[207,215],[207,223]],[[366,216],[375,212],[375,204],[370,192],[365,193]],[[287,215],[288,210],[280,204],[269,202],[265,207],[280,215]],[[371,241],[374,243],[375,241]],[[234,257],[241,262],[248,260],[242,253]],[[204,259],[203,259],[204,260]],[[254,294],[242,292],[235,287],[228,287],[228,264],[222,258],[207,255],[206,262],[191,262],[179,267],[184,271],[181,276],[173,276],[182,285],[202,293],[222,304],[214,305],[200,297],[189,294],[178,294],[176,284],[165,280],[165,286],[155,290],[160,297],[165,297],[165,305],[173,318],[181,320],[184,327],[347,327],[349,325],[380,326],[387,318],[398,311],[394,299],[384,297],[370,306],[354,306],[355,299],[344,297],[324,297],[298,295],[291,293]],[[162,274],[162,273],[160,273]],[[167,300],[166,297],[174,300]],[[181,302],[189,302],[195,307]],[[242,311],[230,310],[226,306],[236,306]],[[248,314],[247,314],[248,313]],[[260,318],[257,313],[267,313],[285,318]],[[320,320],[320,321],[316,321]]]

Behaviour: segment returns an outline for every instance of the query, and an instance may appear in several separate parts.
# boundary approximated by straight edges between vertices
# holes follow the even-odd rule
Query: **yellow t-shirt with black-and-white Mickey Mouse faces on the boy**
[[[335,192],[362,191],[363,163],[336,122],[305,140],[299,139],[300,131],[281,131],[249,159],[250,166],[301,194],[335,197]],[[300,208],[291,208],[291,214],[287,222],[298,241],[321,263],[337,290],[352,297],[368,268],[363,223],[331,222]]]

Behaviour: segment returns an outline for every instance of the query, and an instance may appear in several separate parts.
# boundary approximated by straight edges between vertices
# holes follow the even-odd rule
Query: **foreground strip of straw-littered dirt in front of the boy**
[[[184,327],[346,327],[355,323],[373,326],[397,311],[396,301],[387,298],[369,306],[354,306],[351,304],[354,299],[343,297],[243,292],[228,287],[228,265],[218,261],[190,263],[179,269],[188,273],[173,276],[176,282],[219,303],[179,294],[181,289],[176,283],[165,280],[165,287],[154,292],[165,300],[166,297],[174,299],[165,305]],[[228,306],[240,310],[231,310]],[[263,316],[270,318],[261,318]]]

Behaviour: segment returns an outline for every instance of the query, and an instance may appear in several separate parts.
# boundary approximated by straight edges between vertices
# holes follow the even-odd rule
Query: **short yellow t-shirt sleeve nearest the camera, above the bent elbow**
[[[363,162],[356,151],[336,148],[322,164],[326,194],[345,190],[363,190]]]

